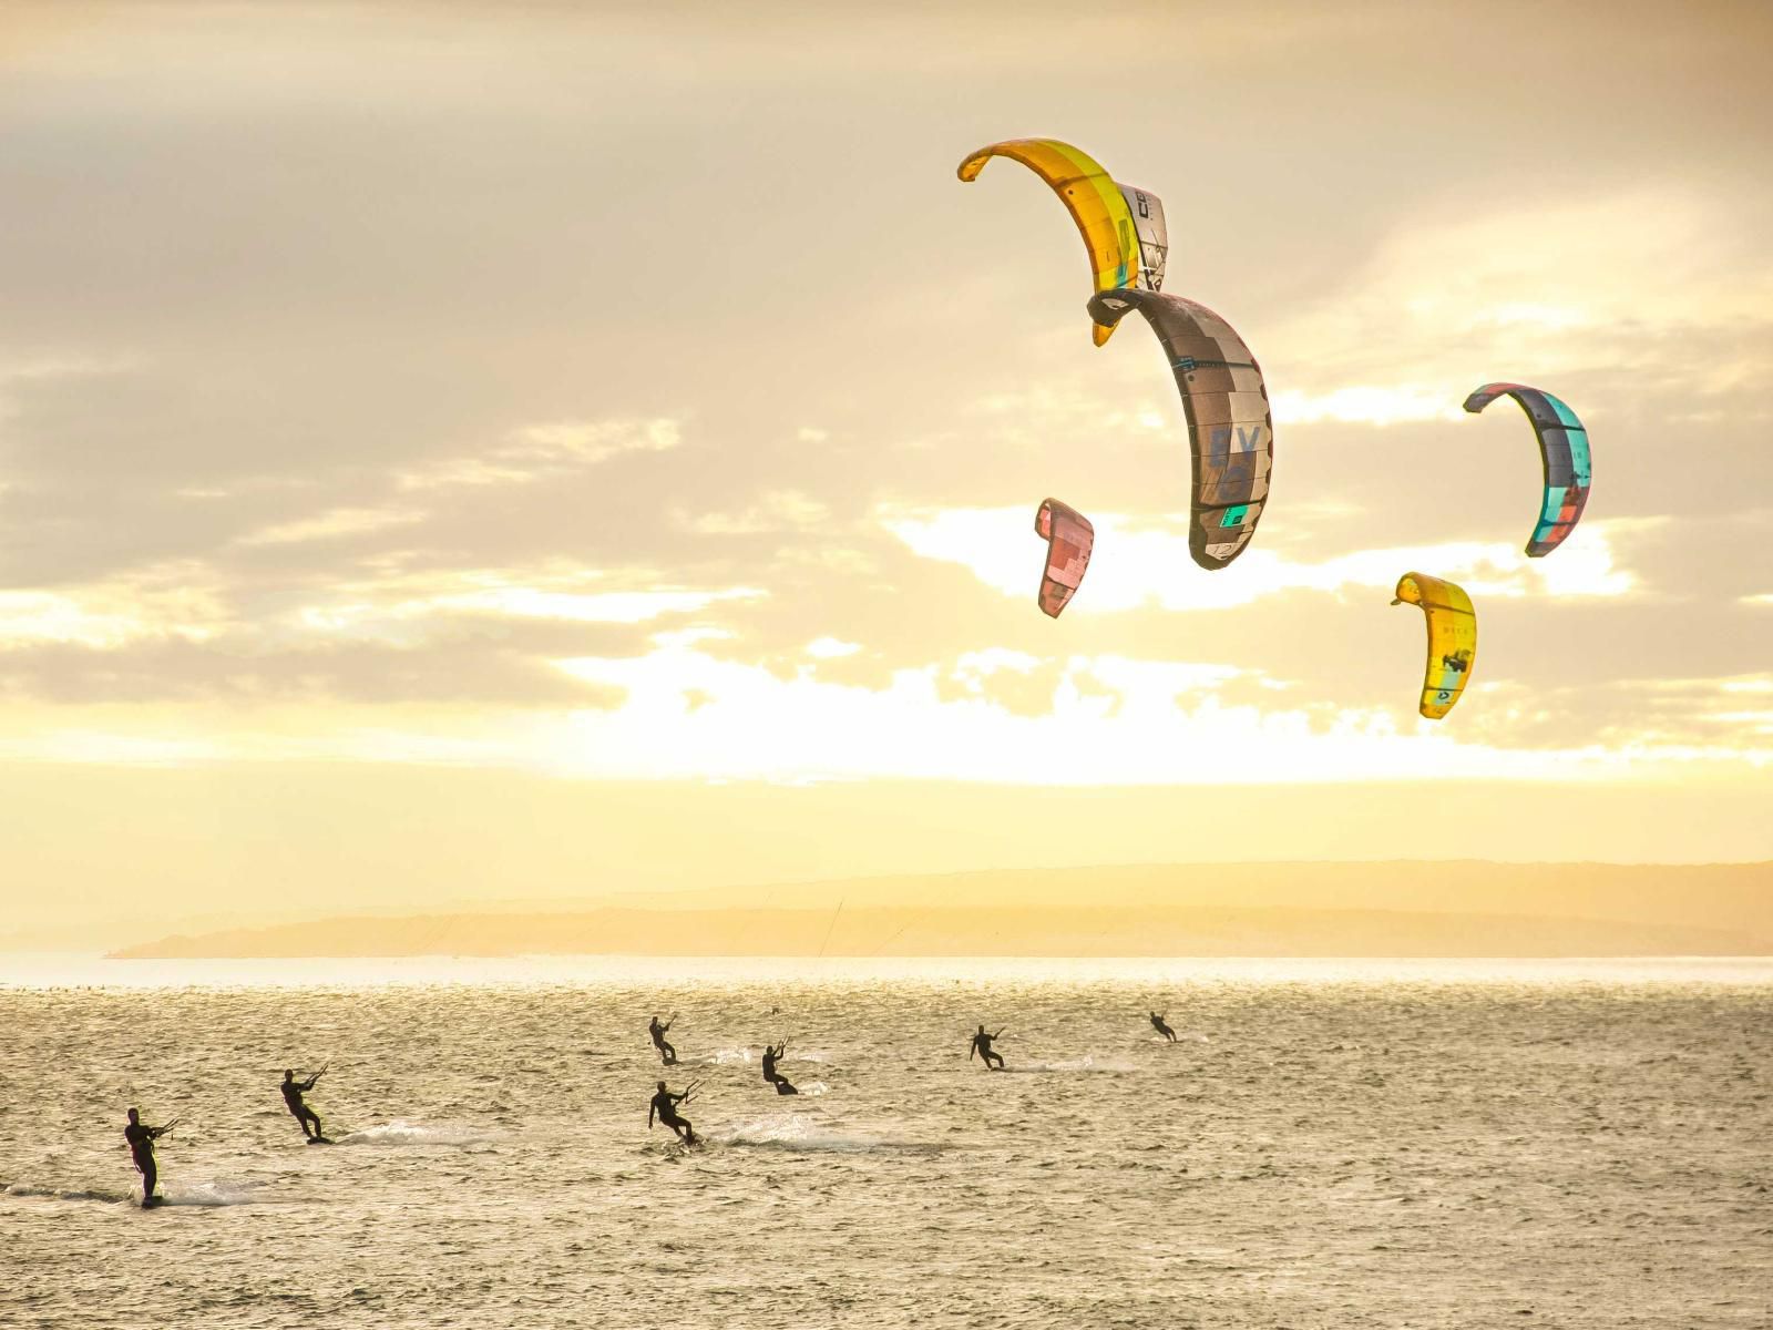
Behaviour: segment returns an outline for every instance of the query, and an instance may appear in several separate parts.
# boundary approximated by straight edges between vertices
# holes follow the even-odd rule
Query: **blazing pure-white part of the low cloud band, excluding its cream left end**
[[[1773,761],[1773,748],[1631,738],[1509,748],[1394,709],[1229,700],[1218,665],[1073,658],[1037,709],[989,695],[1043,663],[993,653],[901,670],[886,688],[782,679],[695,651],[564,661],[624,690],[624,706],[574,718],[560,770],[668,778],[947,778],[1004,784],[1262,784],[1289,780],[1608,778],[1658,763]],[[1475,711],[1473,685],[1463,706]],[[693,704],[691,704],[693,699]],[[778,716],[796,724],[782,727]],[[1456,713],[1457,716],[1459,713]],[[645,736],[645,739],[642,739]],[[940,736],[940,741],[933,741]],[[693,757],[691,757],[693,754]]]

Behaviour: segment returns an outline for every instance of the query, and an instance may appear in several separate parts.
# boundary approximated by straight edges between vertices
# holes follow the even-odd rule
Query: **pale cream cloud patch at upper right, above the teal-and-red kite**
[[[1296,419],[1314,403],[1317,419],[1436,419],[1482,381],[1555,387],[1596,365],[1713,392],[1739,381],[1743,353],[1764,362],[1743,330],[1773,325],[1773,257],[1725,199],[1670,183],[1450,204],[1417,207],[1333,296],[1266,330],[1264,355],[1307,385],[1280,399]],[[1716,328],[1741,348],[1722,362]],[[1369,378],[1397,367],[1408,378]]]

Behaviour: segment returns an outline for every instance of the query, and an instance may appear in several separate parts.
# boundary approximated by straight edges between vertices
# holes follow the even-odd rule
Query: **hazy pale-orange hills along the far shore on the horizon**
[[[168,936],[119,958],[1764,956],[1773,865],[1234,864],[961,872]]]

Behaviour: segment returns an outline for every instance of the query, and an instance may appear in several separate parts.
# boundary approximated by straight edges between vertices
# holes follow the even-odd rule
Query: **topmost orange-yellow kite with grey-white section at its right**
[[[1163,287],[1170,232],[1156,195],[1119,184],[1089,153],[1057,138],[1011,138],[980,147],[961,163],[959,177],[977,179],[991,158],[1023,163],[1058,195],[1083,236],[1097,291]],[[1092,330],[1096,346],[1112,333],[1113,325],[1097,319]]]

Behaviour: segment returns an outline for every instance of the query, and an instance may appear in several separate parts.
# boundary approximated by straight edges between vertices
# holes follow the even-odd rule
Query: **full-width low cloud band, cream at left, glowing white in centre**
[[[1207,661],[984,651],[897,670],[871,688],[810,667],[784,676],[718,660],[707,642],[707,633],[672,631],[637,656],[560,658],[555,669],[573,693],[544,711],[463,711],[418,693],[397,708],[339,702],[319,724],[312,708],[277,697],[131,713],[69,706],[25,724],[14,716],[0,752],[183,764],[436,761],[612,780],[1035,786],[1582,782],[1773,764],[1766,674],[1573,688],[1550,708],[1599,697],[1619,724],[1571,745],[1530,741],[1548,702],[1507,681],[1473,681],[1454,716],[1431,724],[1401,704],[1314,699],[1284,679]]]

